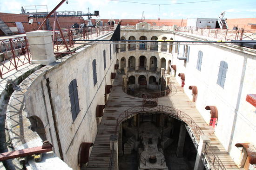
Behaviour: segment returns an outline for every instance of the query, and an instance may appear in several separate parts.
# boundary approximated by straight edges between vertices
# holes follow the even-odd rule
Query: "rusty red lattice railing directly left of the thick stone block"
[[[18,67],[31,63],[27,37],[0,40],[0,78]]]

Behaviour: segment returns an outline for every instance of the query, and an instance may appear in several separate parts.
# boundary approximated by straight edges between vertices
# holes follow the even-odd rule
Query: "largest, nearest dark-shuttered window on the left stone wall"
[[[68,86],[68,91],[69,91],[69,99],[70,99],[70,103],[71,103],[72,119],[74,122],[78,113],[80,112],[76,79],[74,79],[74,80],[72,80],[72,82],[70,82],[70,84]]]

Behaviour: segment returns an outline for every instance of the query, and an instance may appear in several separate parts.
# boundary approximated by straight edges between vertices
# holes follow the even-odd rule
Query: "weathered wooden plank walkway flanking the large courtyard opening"
[[[165,96],[158,99],[159,105],[174,107],[189,114],[191,118],[202,128],[205,135],[211,139],[211,145],[220,157],[222,164],[227,170],[239,170],[232,158],[225,151],[220,141],[216,138],[212,126],[208,126],[201,114],[195,108],[188,96],[183,92],[174,77],[171,77],[172,82],[175,82],[177,93],[172,96]],[[107,107],[101,120],[101,125],[98,126],[98,133],[94,141],[94,146],[89,158],[87,170],[108,170],[110,158],[109,137],[115,133],[116,118],[120,113],[127,110],[129,107],[142,105],[142,99],[125,94],[122,91],[122,76],[116,75]]]

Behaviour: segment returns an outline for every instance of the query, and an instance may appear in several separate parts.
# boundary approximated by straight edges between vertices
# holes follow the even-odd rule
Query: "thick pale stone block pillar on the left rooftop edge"
[[[48,65],[56,61],[54,57],[52,31],[31,31],[27,32],[30,53],[33,64]]]

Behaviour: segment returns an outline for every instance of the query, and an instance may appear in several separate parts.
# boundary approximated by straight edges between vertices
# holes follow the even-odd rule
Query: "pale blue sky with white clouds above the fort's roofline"
[[[29,5],[47,5],[48,11],[51,11],[60,1],[0,0],[0,12],[20,13],[21,6]],[[68,0],[68,4],[62,4],[57,11],[87,13],[89,7],[90,12],[100,10],[100,19],[141,19],[144,11],[146,19],[158,19],[158,4],[171,4],[160,5],[160,19],[217,18],[222,11],[226,11],[225,18],[256,18],[256,0],[216,0],[188,3],[198,1],[207,0]],[[30,12],[33,11],[30,10]]]

